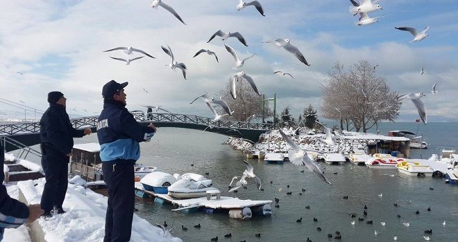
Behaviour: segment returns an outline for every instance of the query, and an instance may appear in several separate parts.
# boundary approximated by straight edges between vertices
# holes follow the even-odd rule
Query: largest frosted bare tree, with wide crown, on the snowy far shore
[[[360,61],[344,72],[337,62],[328,73],[329,79],[321,86],[324,118],[346,122],[356,131],[366,132],[382,120],[393,121],[398,117],[400,102],[398,93],[390,91],[384,77],[378,77],[368,61]]]

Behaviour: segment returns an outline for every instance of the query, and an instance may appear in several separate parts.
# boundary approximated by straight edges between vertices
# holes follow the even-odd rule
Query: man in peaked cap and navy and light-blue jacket
[[[129,241],[134,212],[134,165],[140,157],[139,142],[148,142],[156,128],[139,124],[126,109],[122,84],[111,80],[103,86],[103,110],[97,123],[103,180],[108,185],[105,237],[108,241]]]

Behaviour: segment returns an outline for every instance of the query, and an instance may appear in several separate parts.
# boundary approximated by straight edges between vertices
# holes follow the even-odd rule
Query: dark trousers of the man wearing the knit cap
[[[40,205],[45,212],[53,210],[54,205],[61,208],[64,203],[68,186],[68,162],[68,156],[51,156],[49,154],[42,156],[42,167],[46,183],[44,184]]]

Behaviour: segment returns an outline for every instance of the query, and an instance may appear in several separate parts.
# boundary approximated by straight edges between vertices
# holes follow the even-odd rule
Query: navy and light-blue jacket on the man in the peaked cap
[[[126,104],[105,100],[97,123],[102,162],[135,162],[140,157],[139,142],[149,141],[154,129],[139,124]]]

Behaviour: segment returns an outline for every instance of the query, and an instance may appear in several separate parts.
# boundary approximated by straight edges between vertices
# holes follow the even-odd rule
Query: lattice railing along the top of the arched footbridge
[[[258,129],[271,130],[273,124],[253,123],[253,122],[233,122],[230,120],[220,120],[213,122],[211,118],[205,118],[198,115],[187,115],[178,113],[145,113],[141,111],[132,112],[135,120],[138,122],[177,122],[202,124],[213,127],[225,127],[232,129]],[[75,129],[83,127],[96,127],[99,116],[90,116],[83,118],[71,119],[71,126]],[[19,122],[0,124],[0,136],[11,136],[20,133],[38,133],[40,132],[40,122]]]

